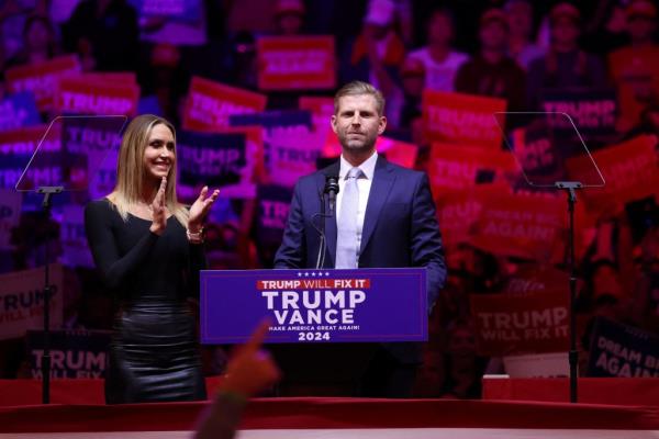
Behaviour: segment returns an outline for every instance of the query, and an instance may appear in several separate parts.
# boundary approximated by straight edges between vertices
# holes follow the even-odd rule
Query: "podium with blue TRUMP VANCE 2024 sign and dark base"
[[[353,396],[378,344],[427,340],[424,268],[201,272],[201,342],[244,342],[270,319],[278,394]]]

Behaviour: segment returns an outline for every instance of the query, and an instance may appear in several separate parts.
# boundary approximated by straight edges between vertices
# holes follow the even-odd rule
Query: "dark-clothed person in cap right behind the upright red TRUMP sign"
[[[524,110],[526,76],[506,55],[507,16],[489,9],[480,18],[480,53],[465,63],[456,75],[456,91],[505,99],[507,111]]]

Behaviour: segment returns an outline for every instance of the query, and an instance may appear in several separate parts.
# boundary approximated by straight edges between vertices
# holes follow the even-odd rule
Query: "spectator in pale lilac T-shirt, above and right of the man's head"
[[[436,9],[427,22],[427,45],[407,56],[423,63],[425,87],[431,90],[454,91],[455,76],[469,57],[451,47],[455,34],[453,14],[447,9]]]

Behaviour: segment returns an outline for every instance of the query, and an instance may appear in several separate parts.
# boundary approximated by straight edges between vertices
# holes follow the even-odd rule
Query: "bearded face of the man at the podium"
[[[378,135],[384,132],[387,117],[378,114],[376,98],[355,94],[339,98],[332,130],[344,150],[366,153],[376,146]]]

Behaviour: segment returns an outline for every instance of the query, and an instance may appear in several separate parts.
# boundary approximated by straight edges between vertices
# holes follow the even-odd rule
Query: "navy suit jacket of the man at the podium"
[[[326,176],[338,176],[339,161],[303,177],[295,185],[275,268],[314,268],[321,239],[317,226]],[[326,212],[328,210],[326,209]],[[325,219],[325,268],[334,268],[336,217]],[[378,157],[366,207],[359,268],[426,267],[428,309],[446,280],[439,225],[428,178]],[[403,292],[402,292],[403,293]],[[421,362],[420,344],[386,344],[403,363]]]

